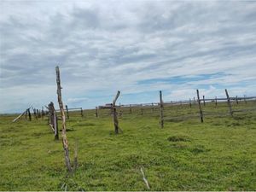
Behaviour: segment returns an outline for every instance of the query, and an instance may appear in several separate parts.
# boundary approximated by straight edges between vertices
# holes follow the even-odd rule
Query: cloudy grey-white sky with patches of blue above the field
[[[256,1],[0,1],[0,113],[256,96]]]

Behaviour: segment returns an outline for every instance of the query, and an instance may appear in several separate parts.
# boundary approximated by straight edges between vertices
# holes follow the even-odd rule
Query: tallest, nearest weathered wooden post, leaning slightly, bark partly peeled
[[[69,151],[68,151],[67,135],[66,135],[66,117],[65,117],[63,102],[61,98],[61,78],[60,78],[59,67],[58,66],[55,67],[55,70],[56,70],[57,95],[58,95],[58,102],[60,106],[61,120],[62,120],[62,134],[61,134],[62,144],[63,144],[64,154],[65,154],[67,171],[72,172],[72,167],[71,167],[70,158],[69,158]]]

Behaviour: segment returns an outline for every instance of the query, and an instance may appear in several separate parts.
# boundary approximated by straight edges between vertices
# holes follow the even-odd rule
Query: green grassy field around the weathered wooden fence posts
[[[222,105],[203,109],[228,111]],[[54,141],[47,118],[11,123],[14,115],[2,115],[0,190],[147,190],[141,167],[150,190],[256,189],[255,112],[207,116],[204,123],[199,118],[172,120],[160,129],[159,109],[144,108],[143,115],[139,108],[132,110],[125,109],[119,119],[119,135],[113,133],[110,116],[70,114],[72,160],[76,141],[79,154],[72,175],[67,175],[61,139]],[[196,106],[165,108],[166,116],[197,111]]]

